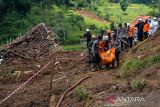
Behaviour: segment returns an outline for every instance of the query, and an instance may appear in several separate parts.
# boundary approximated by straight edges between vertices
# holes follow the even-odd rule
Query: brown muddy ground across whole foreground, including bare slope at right
[[[159,53],[159,44],[159,36],[150,38],[143,46],[134,50],[132,56],[140,56],[143,58],[151,54]],[[148,48],[152,50],[149,51]],[[135,91],[131,89],[129,81],[119,77],[119,68],[93,72],[89,64],[86,63],[86,56],[80,56],[81,53],[80,51],[58,52],[34,61],[21,60],[19,58],[7,60],[0,65],[0,101],[56,57],[56,61],[53,61],[39,75],[0,106],[48,107],[51,104],[50,99],[53,96],[55,97],[54,103],[57,104],[61,95],[68,88],[86,75],[91,75],[91,78],[86,79],[80,84],[80,86],[86,87],[89,98],[80,101],[75,96],[75,89],[73,89],[65,96],[64,100],[62,100],[61,107],[103,107],[106,102],[105,98],[110,95],[141,96],[146,100],[146,102],[140,104],[134,103],[132,105],[126,105],[128,107],[159,107],[160,68],[158,66],[141,69],[135,74],[145,76],[146,78],[145,88],[140,91]],[[56,66],[55,63],[57,64]],[[18,75],[19,72],[21,72],[20,75]],[[134,78],[134,75],[130,78]]]

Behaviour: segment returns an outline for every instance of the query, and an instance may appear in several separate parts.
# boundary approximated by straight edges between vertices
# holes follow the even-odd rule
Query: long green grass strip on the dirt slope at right
[[[149,67],[153,64],[160,62],[160,54],[154,55],[145,59],[128,59],[121,67],[120,75],[125,78],[131,76],[133,73],[137,72],[139,69]]]

